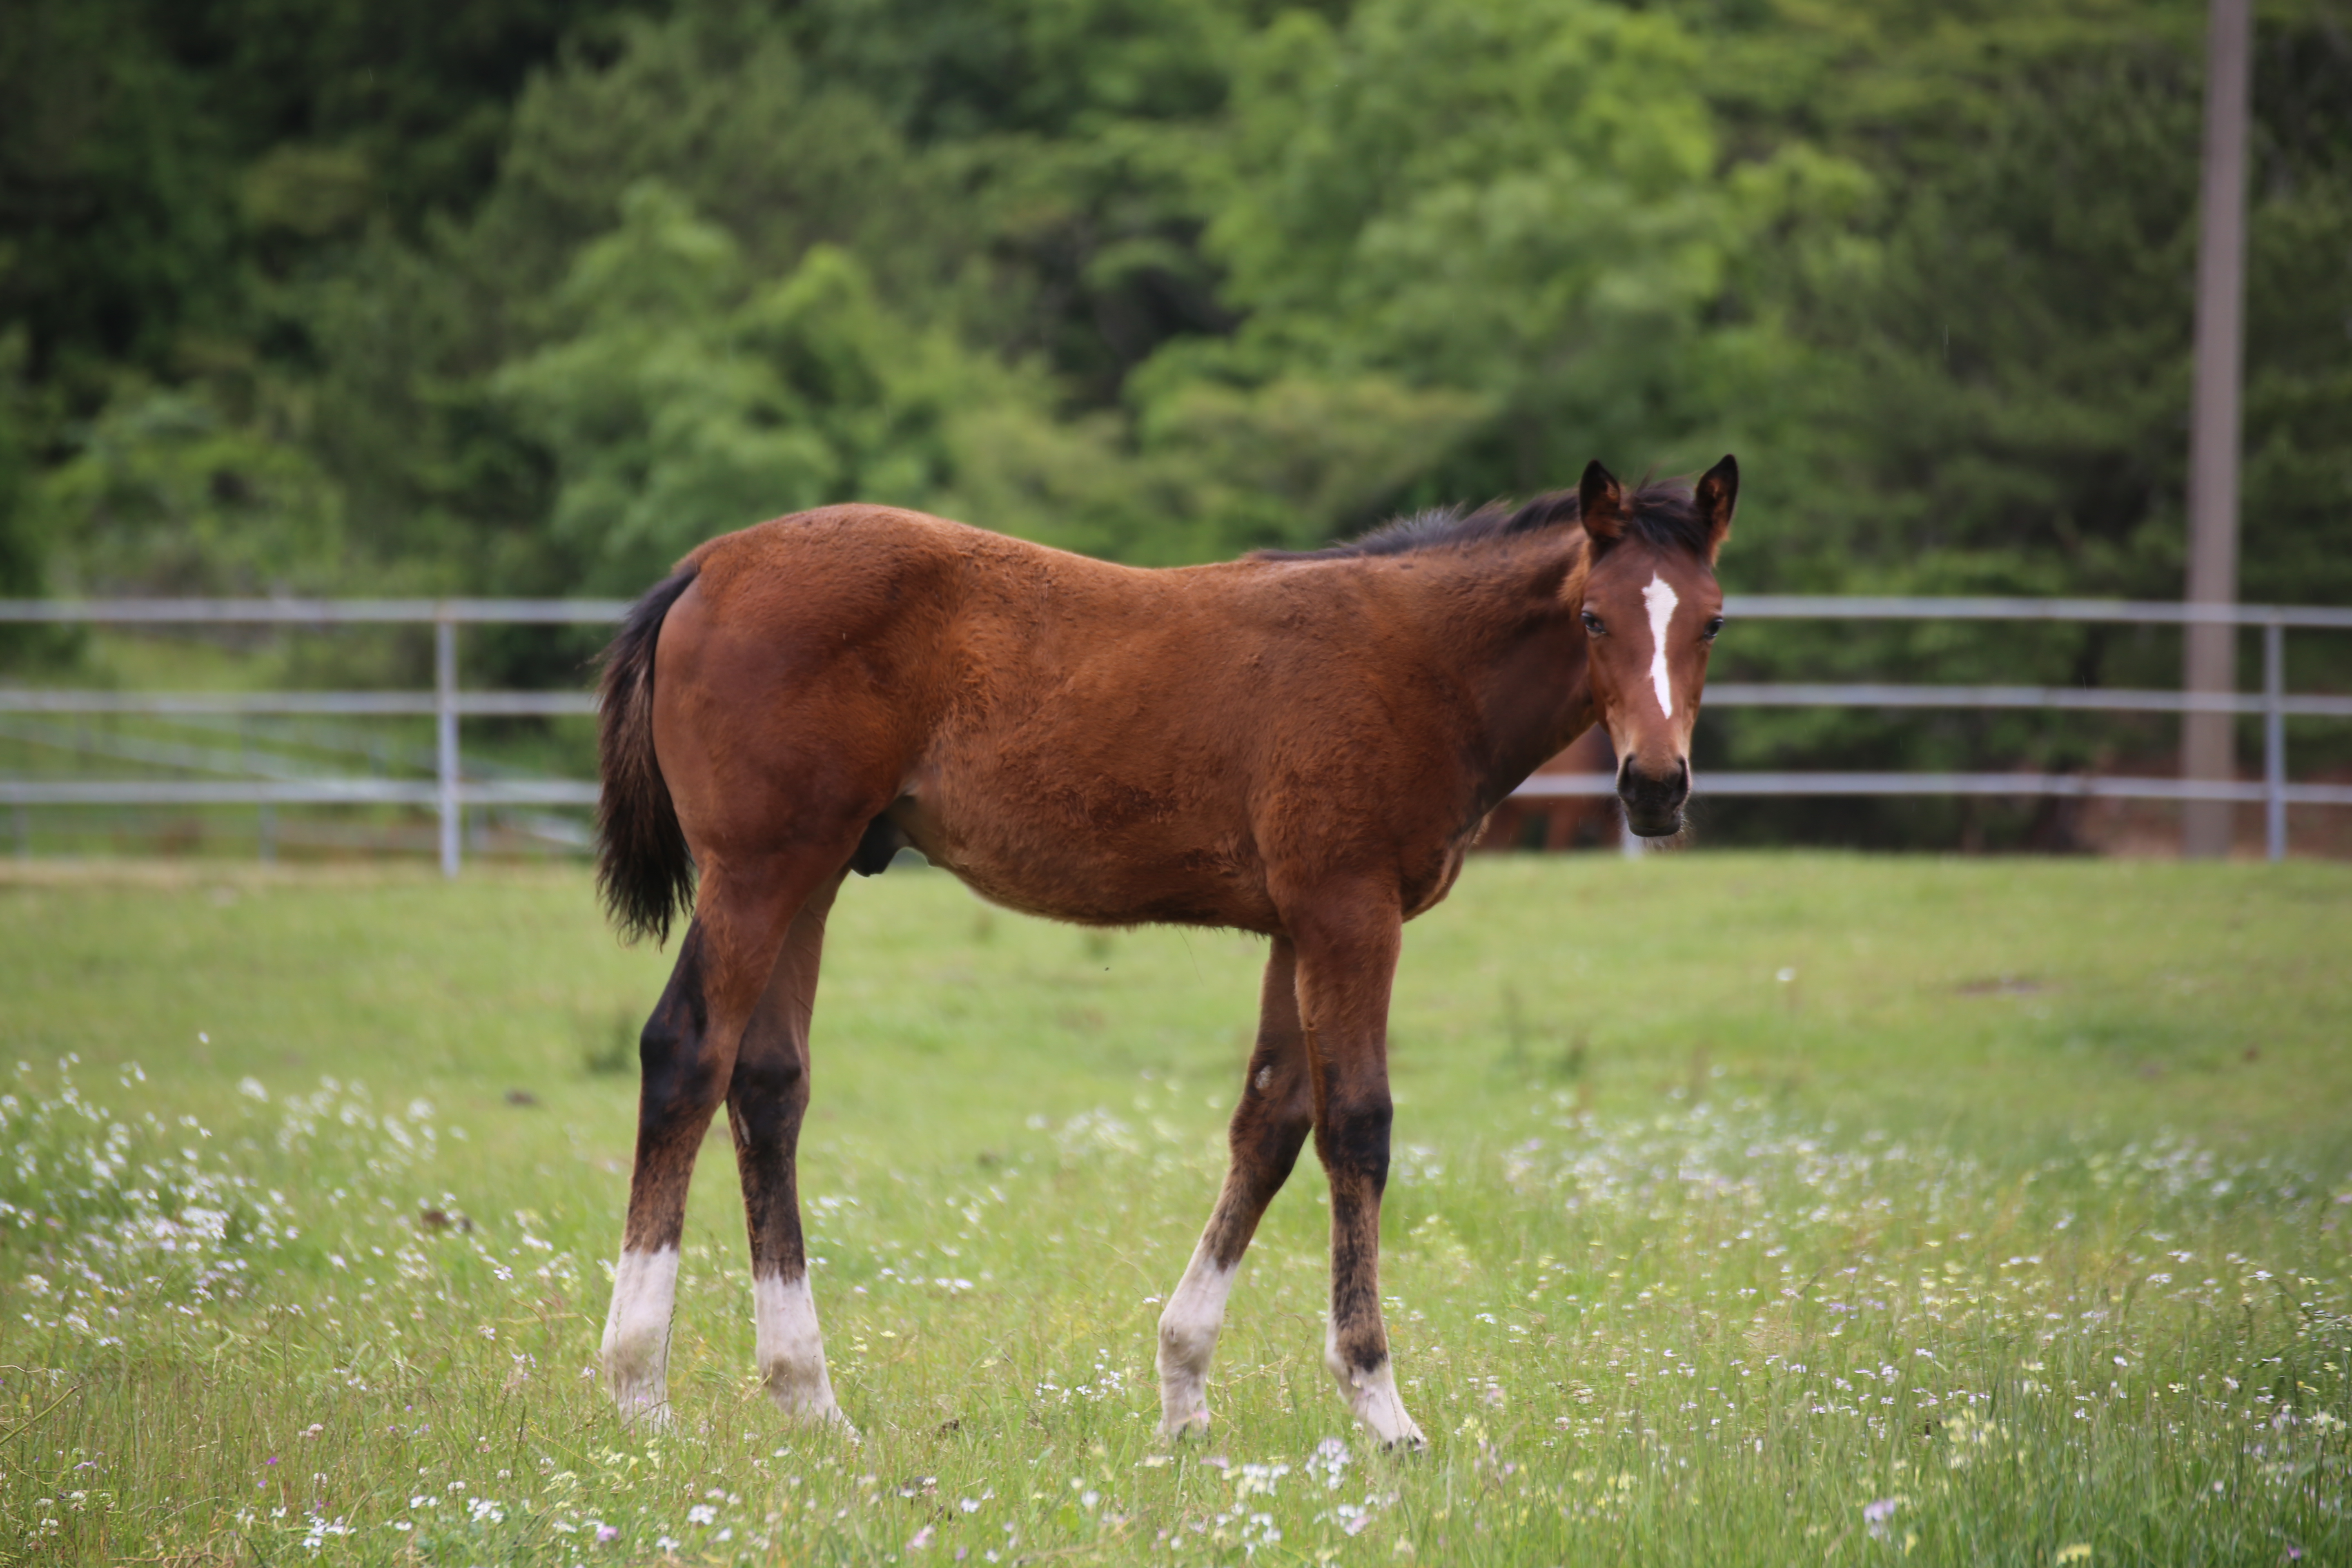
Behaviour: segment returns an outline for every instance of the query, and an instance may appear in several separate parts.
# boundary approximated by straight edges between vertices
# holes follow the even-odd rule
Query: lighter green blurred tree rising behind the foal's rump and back
[[[635,592],[713,534],[833,501],[969,510],[1117,541],[1117,458],[1042,383],[922,329],[849,252],[757,282],[734,237],[644,181],[555,296],[567,329],[494,388],[555,458],[550,538]],[[1108,503],[1108,505],[1105,505]]]

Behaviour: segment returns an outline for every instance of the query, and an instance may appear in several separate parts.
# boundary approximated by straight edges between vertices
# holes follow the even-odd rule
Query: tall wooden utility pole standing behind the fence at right
[[[2237,602],[2239,378],[2246,362],[2246,99],[2253,0],[2213,0],[2206,31],[2206,146],[2197,235],[2197,390],[2190,411],[2190,604]],[[2187,628],[2183,686],[2237,691],[2237,628]],[[2180,776],[2237,776],[2237,717],[2180,719]],[[2234,806],[2180,809],[2183,856],[2227,856]]]

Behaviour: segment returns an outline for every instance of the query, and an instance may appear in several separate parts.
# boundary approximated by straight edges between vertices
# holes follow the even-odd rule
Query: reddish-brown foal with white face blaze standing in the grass
[[[913,844],[1014,910],[1272,938],[1232,1166],[1160,1319],[1162,1432],[1209,1422],[1225,1293],[1312,1131],[1324,1366],[1381,1441],[1418,1443],[1378,1286],[1399,926],[1595,722],[1635,832],[1679,827],[1736,489],[1731,458],[1637,491],[1592,463],[1517,510],[1176,571],[875,505],[689,555],[628,616],[602,696],[604,900],[654,936],[694,905],[642,1039],[602,1349],[623,1413],[666,1413],[687,1180],[724,1105],[760,1375],[783,1410],[842,1420],[793,1164],[809,1011],[842,877]]]

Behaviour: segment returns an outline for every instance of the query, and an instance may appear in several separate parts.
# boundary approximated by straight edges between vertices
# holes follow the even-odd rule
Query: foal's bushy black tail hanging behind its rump
[[[595,884],[621,940],[670,940],[670,917],[694,903],[694,856],[677,827],[670,785],[654,757],[654,642],[661,618],[694,583],[694,567],[663,578],[628,611],[604,649],[597,693]]]

